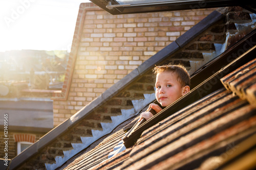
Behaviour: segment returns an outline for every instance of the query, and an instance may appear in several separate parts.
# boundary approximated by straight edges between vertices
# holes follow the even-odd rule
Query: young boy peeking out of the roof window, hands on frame
[[[156,99],[161,106],[166,107],[189,92],[190,78],[184,66],[156,66],[153,72],[156,75]],[[162,110],[160,106],[152,103],[145,112],[140,114],[138,122],[140,122],[142,118],[148,120],[153,117],[153,114],[148,112],[150,108],[155,110],[156,113]]]

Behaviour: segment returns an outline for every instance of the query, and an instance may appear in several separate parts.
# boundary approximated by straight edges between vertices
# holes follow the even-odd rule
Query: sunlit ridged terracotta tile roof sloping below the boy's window
[[[220,169],[237,161],[240,169],[255,168],[255,67],[254,57],[222,78],[222,88],[145,129],[123,152],[108,159],[125,135],[120,129],[59,169]]]

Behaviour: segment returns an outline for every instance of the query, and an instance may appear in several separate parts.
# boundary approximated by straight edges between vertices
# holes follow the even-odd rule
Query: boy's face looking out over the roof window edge
[[[174,72],[160,72],[156,77],[156,99],[162,106],[168,106],[183,95],[183,88]]]

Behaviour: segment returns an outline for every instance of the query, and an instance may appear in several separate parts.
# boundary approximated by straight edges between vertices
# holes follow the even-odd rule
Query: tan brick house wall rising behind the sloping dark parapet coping
[[[92,3],[81,4],[65,83],[62,91],[53,96],[54,126],[71,117],[212,11],[197,9],[115,16]],[[187,56],[173,62],[180,60],[190,69]]]

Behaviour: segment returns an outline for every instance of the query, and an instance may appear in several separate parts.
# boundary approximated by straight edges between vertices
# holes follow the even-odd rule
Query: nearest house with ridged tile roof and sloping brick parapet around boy
[[[230,1],[215,3],[205,5],[227,7],[210,13],[41,137],[13,158],[9,169],[255,168],[254,10],[233,7]],[[107,5],[117,12],[129,12],[131,6]],[[139,4],[131,10],[136,6],[143,9]],[[155,102],[154,65],[170,63],[195,49],[202,50],[196,56],[210,52],[215,57],[190,73],[191,91],[134,128],[138,114]],[[61,98],[65,92],[56,95]],[[136,98],[141,93],[144,99]]]

